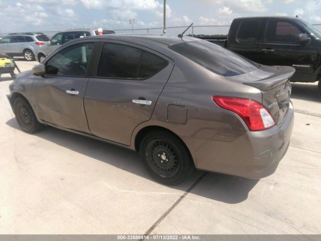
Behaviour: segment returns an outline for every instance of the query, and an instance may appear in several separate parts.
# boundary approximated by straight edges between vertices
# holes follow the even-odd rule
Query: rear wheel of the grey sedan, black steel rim
[[[145,135],[139,152],[150,175],[166,185],[182,183],[195,169],[192,156],[184,143],[166,131]]]

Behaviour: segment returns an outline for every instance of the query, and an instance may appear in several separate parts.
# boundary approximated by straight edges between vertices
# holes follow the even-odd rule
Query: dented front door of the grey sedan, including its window
[[[36,76],[33,83],[35,111],[43,121],[89,133],[83,98],[93,46],[94,43],[69,46],[44,63],[46,74]]]

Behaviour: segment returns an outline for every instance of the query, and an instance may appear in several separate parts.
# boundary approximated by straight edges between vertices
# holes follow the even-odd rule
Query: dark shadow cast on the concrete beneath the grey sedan
[[[16,118],[11,118],[6,124],[11,128],[21,131]],[[139,154],[134,151],[52,127],[46,127],[44,130],[34,135],[82,155],[154,181],[149,176],[143,162],[140,160]],[[203,171],[196,171],[192,177],[197,179],[203,173]],[[190,191],[190,193],[220,202],[231,204],[239,203],[247,199],[248,193],[258,181],[259,180],[219,173],[206,173],[204,178]],[[183,183],[177,186],[171,186],[171,188],[187,191],[189,187]]]

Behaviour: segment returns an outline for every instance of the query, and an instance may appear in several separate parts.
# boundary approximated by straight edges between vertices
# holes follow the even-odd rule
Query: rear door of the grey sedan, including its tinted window
[[[150,49],[102,43],[84,99],[90,132],[130,145],[134,128],[149,120],[173,67],[172,60]]]

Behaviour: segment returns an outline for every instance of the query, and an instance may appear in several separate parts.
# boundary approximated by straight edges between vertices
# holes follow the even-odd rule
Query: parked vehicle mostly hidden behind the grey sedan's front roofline
[[[115,31],[113,30],[103,30],[104,34],[114,34]],[[45,48],[39,49],[39,51],[36,54],[36,59],[38,62],[42,62],[46,56],[48,56],[51,52],[56,50],[60,45],[73,40],[78,39],[86,36],[94,36],[98,35],[98,30],[95,29],[71,29],[67,30],[65,32],[60,32],[55,34],[50,39],[50,44],[47,45]]]

